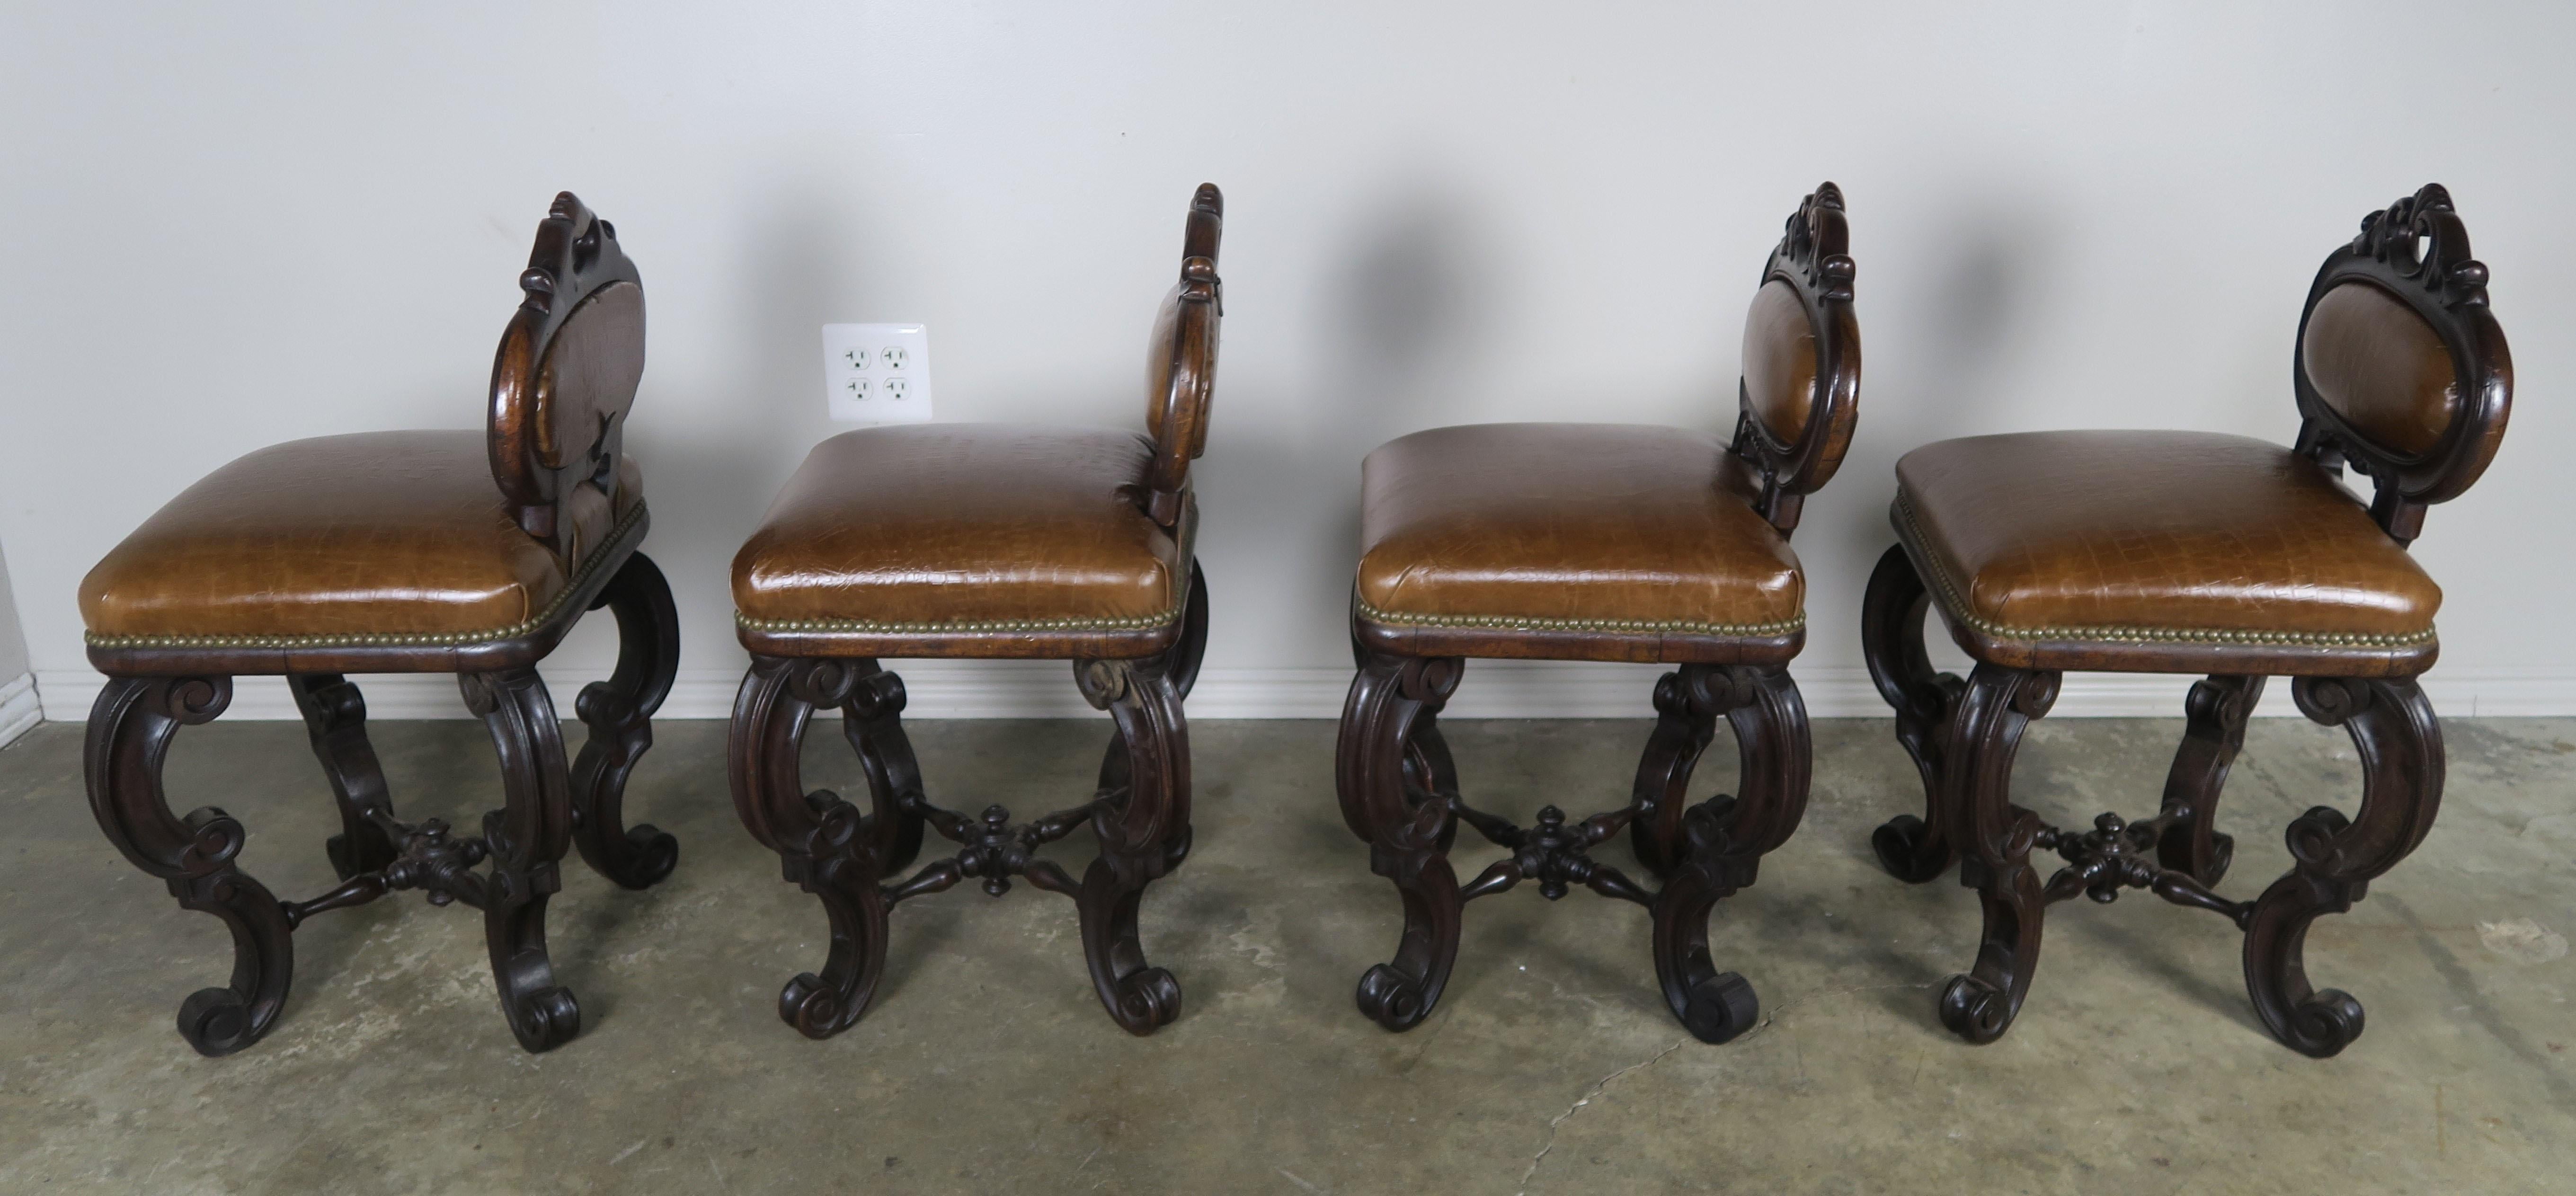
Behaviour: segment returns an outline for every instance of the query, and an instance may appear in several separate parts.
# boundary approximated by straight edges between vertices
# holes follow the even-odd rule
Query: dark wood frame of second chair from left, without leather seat
[[[912,897],[981,879],[984,892],[1010,892],[1010,879],[1061,892],[1082,915],[1082,956],[1100,1005],[1128,1034],[1154,1034],[1180,1016],[1180,982],[1151,967],[1136,933],[1146,884],[1190,853],[1190,735],[1182,699],[1198,680],[1208,647],[1208,583],[1190,544],[1198,503],[1190,461],[1206,451],[1208,400],[1216,384],[1221,284],[1216,247],[1224,196],[1200,186],[1190,201],[1180,284],[1157,320],[1151,477],[1136,505],[1182,549],[1188,593],[1180,619],[1123,632],[762,632],[739,626],[752,668],[742,678],[732,722],[734,812],[778,853],[788,884],[822,900],[832,949],[819,974],[804,972],[778,992],[778,1016],[809,1039],[858,1023],[886,969],[886,915]],[[904,683],[876,657],[1015,657],[1072,660],[1074,686],[1115,722],[1090,802],[1015,822],[992,804],[979,817],[930,804],[904,737]],[[817,709],[840,709],[842,737],[868,778],[868,812],[829,789],[806,791],[799,768],[806,724]],[[1097,858],[1077,882],[1038,848],[1092,827]],[[894,879],[922,851],[922,830],[958,851]]]

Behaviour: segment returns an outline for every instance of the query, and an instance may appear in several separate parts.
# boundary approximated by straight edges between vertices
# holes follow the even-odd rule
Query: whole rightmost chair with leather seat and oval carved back
[[[2012,1026],[2040,959],[2040,915],[2128,889],[2215,910],[2244,931],[2246,992],[2275,1039],[2316,1057],[2362,1034],[2362,1005],[2308,987],[2308,923],[2349,910],[2432,830],[2442,729],[2416,675],[2434,662],[2442,590],[2406,554],[2424,508],[2496,454],[2514,374],[2450,193],[2427,186],[2362,219],[2308,291],[2293,358],[2295,448],[2202,433],[1973,436],[1896,464],[1896,539],[1862,608],[1878,693],[1924,778],[1924,817],[1870,838],[1906,882],[1960,861],[1986,907],[1976,969],[1942,1023],[1968,1041]],[[2370,477],[2370,505],[2336,477]],[[1932,580],[1927,593],[1924,577]],[[1937,603],[1932,601],[1937,598]],[[1976,670],[1932,673],[1924,608]],[[2205,673],[2156,817],[2087,833],[2014,807],[2012,755],[2061,670]],[[2218,789],[2267,675],[2362,758],[2362,809],[2290,822],[2293,869],[2251,902],[2218,897],[2231,840]],[[2066,866],[2048,882],[2032,848]]]

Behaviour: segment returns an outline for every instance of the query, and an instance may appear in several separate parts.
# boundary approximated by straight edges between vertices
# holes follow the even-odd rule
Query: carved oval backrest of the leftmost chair
[[[528,296],[510,314],[492,361],[492,479],[518,526],[564,559],[567,508],[618,503],[626,410],[644,379],[644,281],[618,247],[618,229],[564,191],[536,227],[518,276]]]

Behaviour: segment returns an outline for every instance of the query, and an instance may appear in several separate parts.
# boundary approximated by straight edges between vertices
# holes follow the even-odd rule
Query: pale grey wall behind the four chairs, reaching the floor
[[[1754,271],[1832,178],[1868,376],[1798,534],[1801,678],[1821,714],[1870,711],[1855,619],[1904,448],[2287,441],[2316,263],[2442,180],[2527,402],[2419,546],[2450,595],[2437,699],[2576,711],[2576,639],[2532,634],[2576,580],[2576,8],[1953,8],[18,5],[0,536],[39,675],[77,714],[82,570],[206,469],[474,425],[528,237],[574,188],[652,289],[631,446],[688,621],[675,709],[721,714],[726,562],[837,430],[817,325],[927,322],[945,420],[1136,425],[1182,209],[1216,180],[1193,711],[1332,714],[1360,456],[1466,420],[1728,428]],[[600,632],[562,660],[605,655]],[[1082,709],[1061,665],[917,675],[917,709]],[[2179,693],[2092,686],[2061,711]],[[1479,668],[1461,701],[1646,709],[1600,668]]]

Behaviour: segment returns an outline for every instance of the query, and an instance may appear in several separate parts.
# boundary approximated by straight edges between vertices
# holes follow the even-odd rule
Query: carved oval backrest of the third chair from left
[[[1762,263],[1736,402],[1734,448],[1762,474],[1762,518],[1795,531],[1801,500],[1842,467],[1860,418],[1852,250],[1834,183],[1798,204]]]

